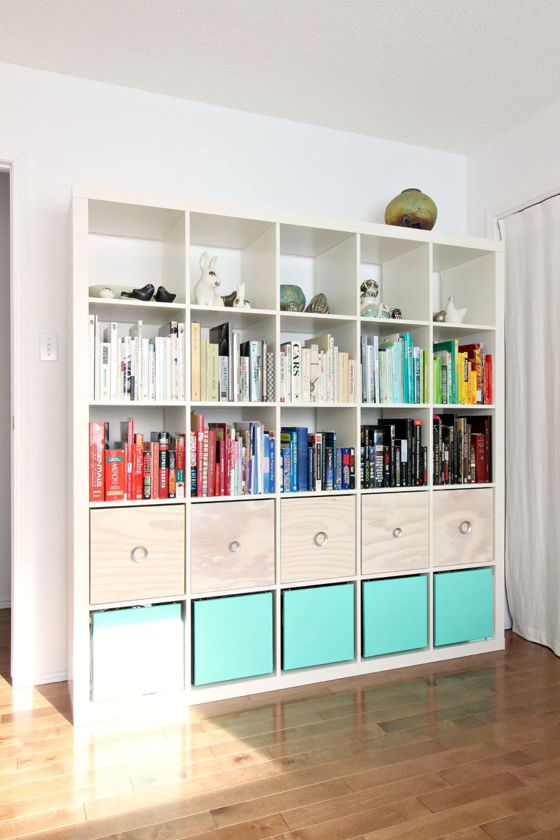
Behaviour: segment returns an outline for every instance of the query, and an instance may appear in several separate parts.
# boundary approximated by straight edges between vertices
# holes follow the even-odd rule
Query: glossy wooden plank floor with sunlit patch
[[[73,729],[62,683],[0,703],[0,840],[560,838],[560,659],[511,634],[160,725]]]

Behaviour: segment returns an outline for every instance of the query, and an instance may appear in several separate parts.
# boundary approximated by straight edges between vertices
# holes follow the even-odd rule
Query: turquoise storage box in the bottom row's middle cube
[[[284,670],[354,659],[354,635],[353,584],[283,591]]]

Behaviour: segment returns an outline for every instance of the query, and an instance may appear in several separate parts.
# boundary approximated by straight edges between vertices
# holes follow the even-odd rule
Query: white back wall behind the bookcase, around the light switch
[[[34,459],[30,511],[35,681],[66,673],[66,213],[72,181],[383,221],[408,186],[465,231],[465,159],[417,146],[0,64],[0,148],[29,185]],[[60,362],[40,363],[39,333]],[[87,558],[83,558],[87,563]]]

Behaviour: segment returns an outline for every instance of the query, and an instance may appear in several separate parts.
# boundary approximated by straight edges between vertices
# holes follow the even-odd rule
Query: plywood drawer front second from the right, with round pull
[[[428,494],[362,496],[362,575],[425,569]]]

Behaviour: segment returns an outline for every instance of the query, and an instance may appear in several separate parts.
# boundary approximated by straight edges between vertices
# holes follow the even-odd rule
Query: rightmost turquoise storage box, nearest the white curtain
[[[494,635],[491,569],[434,575],[434,644],[473,642]]]

